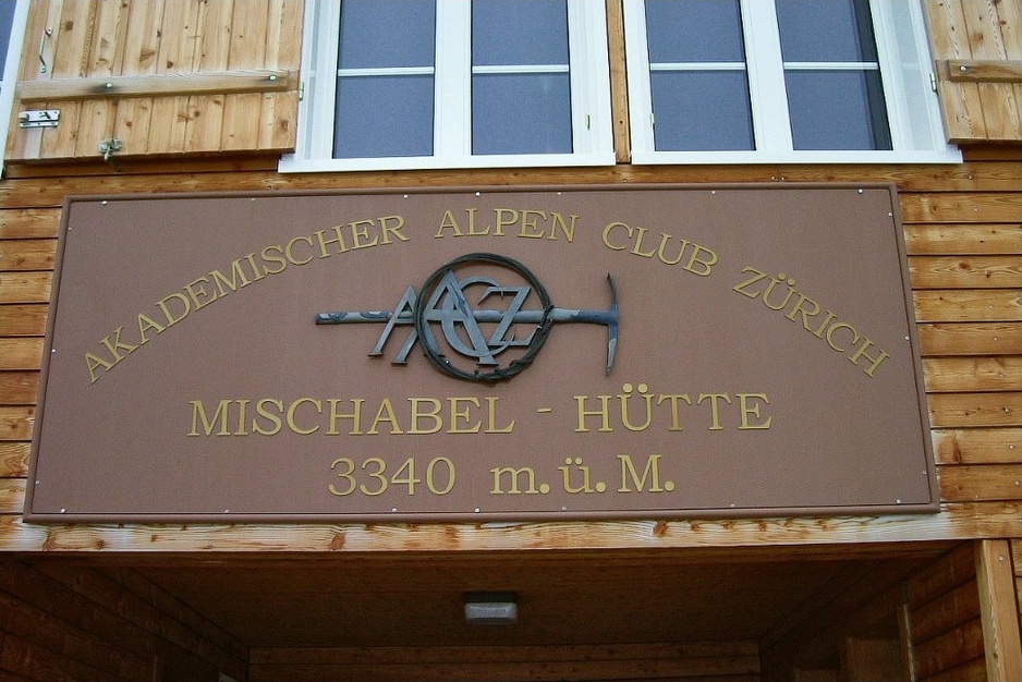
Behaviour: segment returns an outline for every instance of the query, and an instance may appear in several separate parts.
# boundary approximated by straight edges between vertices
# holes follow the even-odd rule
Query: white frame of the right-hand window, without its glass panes
[[[740,7],[756,148],[657,151],[644,0],[624,0],[633,163],[961,162],[961,153],[945,139],[939,103],[930,81],[933,62],[917,0],[871,0],[890,122],[892,149],[889,150],[793,149],[784,95],[786,64],[781,57],[775,3],[769,0],[740,0]],[[811,68],[819,66],[814,64]],[[869,68],[869,64],[856,62],[840,66],[859,70]]]

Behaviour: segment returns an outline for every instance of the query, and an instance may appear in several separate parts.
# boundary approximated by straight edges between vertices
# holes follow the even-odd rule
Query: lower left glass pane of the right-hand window
[[[649,75],[657,151],[754,148],[744,71]]]

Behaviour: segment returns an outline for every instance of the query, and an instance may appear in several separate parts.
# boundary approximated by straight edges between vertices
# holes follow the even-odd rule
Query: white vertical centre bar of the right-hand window
[[[742,0],[745,63],[756,149],[792,148],[784,63],[781,56],[777,9],[764,0]]]

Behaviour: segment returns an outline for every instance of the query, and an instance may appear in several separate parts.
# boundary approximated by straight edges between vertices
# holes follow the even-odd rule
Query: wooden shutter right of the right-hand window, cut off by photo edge
[[[926,0],[948,138],[1022,141],[1022,2]]]

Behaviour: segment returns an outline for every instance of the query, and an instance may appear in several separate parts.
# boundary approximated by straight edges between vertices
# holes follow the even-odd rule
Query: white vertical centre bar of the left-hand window
[[[472,155],[472,5],[437,0],[434,156]]]

